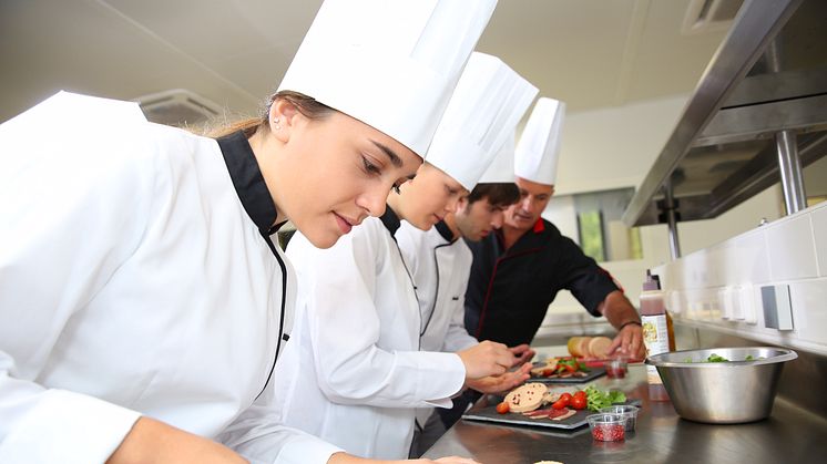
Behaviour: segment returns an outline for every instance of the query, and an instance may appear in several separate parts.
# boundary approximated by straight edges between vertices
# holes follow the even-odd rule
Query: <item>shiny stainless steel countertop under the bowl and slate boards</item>
[[[423,457],[459,455],[473,457],[482,464],[530,464],[543,460],[565,464],[776,464],[823,463],[827,456],[827,417],[802,410],[782,398],[776,398],[773,414],[764,421],[711,425],[681,419],[670,402],[650,402],[642,364],[631,365],[625,379],[604,377],[592,384],[601,390],[622,390],[630,399],[642,401],[636,432],[625,442],[595,442],[589,426],[569,432],[463,420],[442,435]]]

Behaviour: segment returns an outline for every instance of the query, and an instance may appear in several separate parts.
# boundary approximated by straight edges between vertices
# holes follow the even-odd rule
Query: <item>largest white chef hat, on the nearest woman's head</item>
[[[423,156],[497,0],[326,0],[278,90]]]

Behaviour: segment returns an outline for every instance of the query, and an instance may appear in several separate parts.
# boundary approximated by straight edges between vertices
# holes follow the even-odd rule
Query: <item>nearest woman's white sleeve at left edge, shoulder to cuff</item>
[[[103,462],[139,417],[38,383],[69,319],[136,247],[152,187],[106,162],[129,144],[118,128],[63,110],[0,125],[2,463]]]

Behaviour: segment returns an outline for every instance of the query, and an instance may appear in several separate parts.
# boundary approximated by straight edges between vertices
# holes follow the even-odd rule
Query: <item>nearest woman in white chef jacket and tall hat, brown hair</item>
[[[294,92],[217,141],[68,93],[0,126],[0,462],[360,461],[268,414],[296,285],[270,235],[384,213],[494,7],[375,3],[328,0]]]

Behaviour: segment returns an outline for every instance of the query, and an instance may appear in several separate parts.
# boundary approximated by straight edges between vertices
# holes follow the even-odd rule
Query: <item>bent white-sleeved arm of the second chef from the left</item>
[[[389,239],[381,234],[387,233],[378,221],[366,223],[333,248],[314,254],[307,310],[319,388],[343,404],[442,405],[464,382],[458,355],[377,346],[376,276],[389,265],[388,257],[379,256]]]

